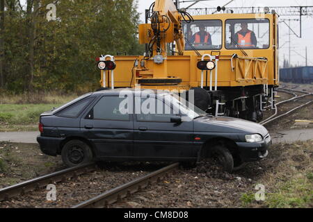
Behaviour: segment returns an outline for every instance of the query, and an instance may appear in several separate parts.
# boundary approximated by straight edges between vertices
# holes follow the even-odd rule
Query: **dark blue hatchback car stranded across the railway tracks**
[[[257,123],[212,117],[172,94],[134,89],[85,94],[41,114],[39,128],[42,152],[62,155],[70,167],[93,160],[194,163],[213,156],[231,172],[262,160],[271,144]]]

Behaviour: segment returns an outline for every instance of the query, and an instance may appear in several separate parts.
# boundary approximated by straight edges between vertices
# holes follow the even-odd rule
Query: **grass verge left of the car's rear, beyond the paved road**
[[[37,130],[40,114],[56,108],[77,95],[0,95],[0,132]]]

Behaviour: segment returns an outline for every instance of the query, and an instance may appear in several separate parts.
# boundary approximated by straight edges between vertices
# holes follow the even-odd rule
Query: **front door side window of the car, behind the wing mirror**
[[[147,105],[147,100],[150,100],[149,103],[154,103],[154,108],[151,108],[150,105]],[[160,105],[162,107],[160,107]],[[145,109],[145,110],[144,110]],[[145,113],[143,113],[145,112]],[[148,112],[148,113],[147,113]],[[177,114],[172,113],[172,109],[163,101],[158,101],[155,98],[145,98],[141,99],[141,114],[136,114],[136,119],[138,122],[164,122],[170,123],[171,117],[177,117]]]

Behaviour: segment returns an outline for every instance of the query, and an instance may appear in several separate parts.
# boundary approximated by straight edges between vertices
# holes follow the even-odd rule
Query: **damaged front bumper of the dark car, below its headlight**
[[[262,142],[248,143],[237,142],[239,155],[243,162],[253,162],[262,160],[268,156],[268,148],[271,146],[271,137],[267,137]]]

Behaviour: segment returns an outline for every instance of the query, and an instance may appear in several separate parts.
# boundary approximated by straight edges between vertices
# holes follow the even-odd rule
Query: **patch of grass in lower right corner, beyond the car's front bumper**
[[[241,195],[243,207],[299,208],[313,207],[313,141],[279,144],[271,148],[275,164],[257,183],[266,187],[265,201],[255,194]]]

